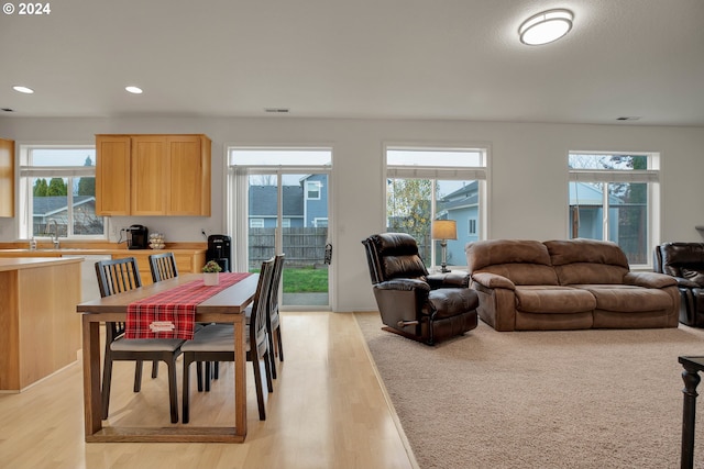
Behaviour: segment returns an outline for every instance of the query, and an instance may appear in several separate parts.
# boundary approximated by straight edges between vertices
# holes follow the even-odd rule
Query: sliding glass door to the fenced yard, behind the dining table
[[[300,158],[292,158],[282,149],[258,152],[252,148],[230,150],[231,161],[238,163],[230,178],[233,197],[246,200],[245,204],[239,204],[243,216],[235,217],[241,233],[239,238],[246,241],[240,244],[240,257],[246,258],[248,270],[257,271],[263,260],[284,253],[282,306],[329,309],[329,165],[267,167],[261,165],[267,157],[275,156],[278,163],[299,163]],[[327,161],[330,161],[330,152],[327,154]],[[243,164],[252,158],[258,165]],[[242,265],[241,261],[238,264]]]

